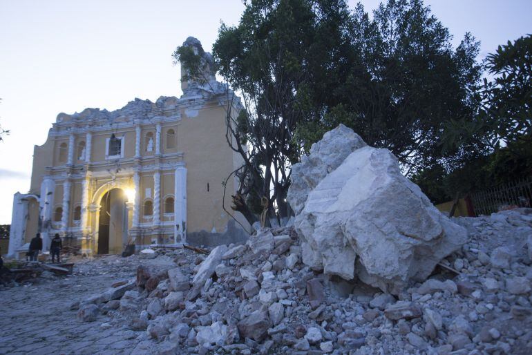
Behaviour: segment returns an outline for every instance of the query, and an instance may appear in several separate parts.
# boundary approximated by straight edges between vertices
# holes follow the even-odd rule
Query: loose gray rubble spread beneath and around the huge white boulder
[[[468,242],[397,296],[312,270],[281,228],[209,256],[158,251],[120,299],[89,298],[79,318],[129,322],[133,354],[529,354],[532,210],[454,221]]]

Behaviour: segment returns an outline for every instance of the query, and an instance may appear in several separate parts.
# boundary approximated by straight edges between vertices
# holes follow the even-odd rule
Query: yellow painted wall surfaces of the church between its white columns
[[[140,205],[135,207],[139,209],[140,227],[138,229],[131,229],[133,218],[129,216],[129,229],[132,231],[133,236],[139,236],[136,243],[150,244],[153,238],[161,236],[163,233],[167,235],[166,240],[168,240],[168,236],[173,236],[173,223],[171,222],[174,215],[173,213],[165,214],[164,202],[169,196],[175,199],[175,167],[180,165],[187,168],[187,231],[211,231],[215,228],[216,231],[220,232],[225,229],[230,217],[222,209],[222,182],[227,179],[229,173],[234,171],[236,165],[240,163],[239,155],[232,152],[226,142],[225,109],[218,105],[217,100],[213,99],[204,106],[198,107],[197,110],[196,108],[180,108],[180,111],[173,111],[171,115],[168,115],[168,112],[165,111],[164,116],[171,116],[173,120],[164,122],[164,119],[162,119],[161,122],[160,150],[162,156],[155,156],[155,123],[143,124],[140,135],[140,160],[132,159],[135,157],[136,144],[134,120],[131,120],[129,126],[106,131],[97,131],[101,126],[95,126],[98,128],[94,128],[95,131],[91,133],[91,159],[89,164],[86,164],[85,160],[79,160],[81,153],[79,143],[84,142],[87,148],[86,130],[88,127],[84,126],[84,124],[77,125],[77,123],[73,123],[71,127],[65,128],[64,123],[66,121],[58,121],[54,128],[50,130],[52,134],[49,135],[48,140],[41,146],[35,146],[32,171],[32,191],[34,193],[40,193],[41,182],[45,175],[55,182],[55,193],[50,206],[53,220],[51,233],[59,232],[62,235],[62,219],[55,220],[55,209],[63,207],[64,179],[69,176],[71,182],[69,211],[64,211],[64,213],[68,213],[68,227],[70,230],[66,231],[66,235],[73,237],[75,242],[80,244],[82,243],[82,236],[85,238],[87,236],[86,233],[91,233],[88,237],[92,238],[92,240],[88,239],[83,242],[82,248],[85,250],[93,249],[92,252],[96,252],[97,242],[93,239],[97,238],[98,223],[95,212],[88,212],[88,208],[85,209],[88,215],[86,215],[86,224],[84,226],[74,220],[75,208],[82,204],[84,178],[81,178],[81,175],[84,175],[86,171],[90,172],[89,176],[91,178],[88,179],[90,182],[88,207],[90,207],[93,202],[99,200],[98,198],[95,199],[95,193],[97,193],[98,189],[111,182],[109,171],[118,169],[117,175],[113,180],[117,182],[120,180],[122,189],[125,189],[125,186],[133,186],[134,171],[139,171],[140,175],[139,190],[136,191],[140,198]],[[155,122],[157,121],[155,120]],[[67,166],[68,148],[65,161],[59,162],[59,146],[61,143],[65,143],[68,146],[72,129],[75,132],[73,146],[73,162],[75,165]],[[173,137],[175,144],[170,148],[168,147],[169,136],[167,135],[169,130],[175,132],[175,137]],[[149,132],[153,133],[154,146],[153,151],[146,152],[146,133]],[[124,136],[124,160],[129,160],[129,162],[124,160],[106,160],[106,140],[113,133],[117,137]],[[87,149],[85,153],[89,153]],[[175,153],[180,154],[177,155]],[[164,155],[170,156],[164,157]],[[151,189],[149,200],[155,201],[153,181],[155,171],[153,169],[158,169],[158,166],[160,167],[161,176],[159,211],[160,222],[162,223],[160,225],[152,225],[153,215],[144,218],[143,207],[144,201],[148,198],[146,189]],[[229,209],[234,189],[234,178],[231,177],[225,193],[226,209]],[[102,189],[99,190],[99,193],[102,193],[102,191]],[[26,223],[25,233],[25,238],[27,235],[28,240],[37,233],[38,203],[34,207],[30,206],[31,209],[35,209],[35,211],[29,211],[28,213],[29,220]],[[32,215],[32,213],[35,213],[35,215]],[[130,213],[132,212],[130,211]],[[113,249],[112,252],[119,253],[122,241],[116,240],[110,247]]]

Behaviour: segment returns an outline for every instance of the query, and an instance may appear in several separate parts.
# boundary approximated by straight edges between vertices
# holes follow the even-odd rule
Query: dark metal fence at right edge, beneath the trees
[[[532,207],[532,176],[471,194],[475,215],[512,207]]]

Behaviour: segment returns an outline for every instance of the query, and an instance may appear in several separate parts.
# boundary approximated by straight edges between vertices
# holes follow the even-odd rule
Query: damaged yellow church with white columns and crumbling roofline
[[[228,105],[213,75],[181,86],[179,99],[57,115],[46,142],[35,146],[30,191],[15,194],[9,255],[25,251],[37,232],[45,249],[59,233],[91,255],[223,231],[231,216],[222,204],[229,207],[237,186],[227,180],[222,201],[222,182],[240,166],[227,144],[226,117],[238,115],[239,100]]]

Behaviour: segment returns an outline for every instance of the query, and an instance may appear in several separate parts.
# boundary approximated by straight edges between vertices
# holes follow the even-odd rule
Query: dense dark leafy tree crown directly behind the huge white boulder
[[[373,19],[358,5],[353,21],[352,46],[361,57],[332,91],[337,104],[300,132],[343,123],[368,144],[389,148],[407,174],[453,157],[456,149],[439,142],[448,119],[475,116],[479,44],[466,34],[453,50],[448,29],[421,0],[381,3]]]

